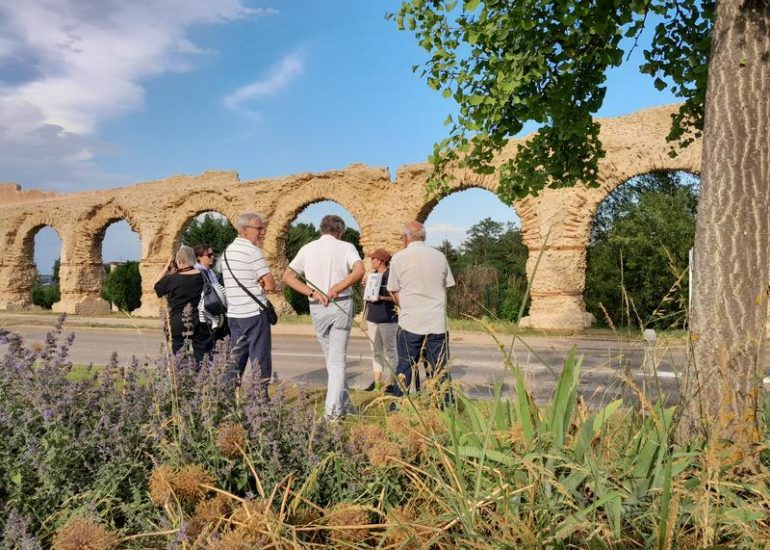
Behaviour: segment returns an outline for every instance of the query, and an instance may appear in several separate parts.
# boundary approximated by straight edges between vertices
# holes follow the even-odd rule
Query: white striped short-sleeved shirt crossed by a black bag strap
[[[246,294],[235,282],[233,275],[248,288],[252,294],[263,302],[267,299],[259,280],[270,273],[270,267],[262,251],[243,237],[236,237],[225,250],[225,257],[230,264],[222,261],[222,275],[227,296],[227,316],[234,319],[244,319],[259,315],[262,310],[257,303]],[[230,271],[232,269],[232,272]]]

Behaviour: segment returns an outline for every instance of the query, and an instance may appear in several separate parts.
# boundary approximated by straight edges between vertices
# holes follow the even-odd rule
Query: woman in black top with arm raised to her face
[[[173,269],[175,258],[176,269]],[[198,319],[198,302],[202,291],[203,277],[195,269],[195,253],[192,248],[183,245],[179,247],[176,257],[169,258],[155,281],[155,294],[159,298],[165,296],[168,301],[171,350],[176,354],[186,341],[190,341],[196,363],[200,363],[203,355],[211,348],[210,333]],[[188,305],[189,314],[185,315]]]

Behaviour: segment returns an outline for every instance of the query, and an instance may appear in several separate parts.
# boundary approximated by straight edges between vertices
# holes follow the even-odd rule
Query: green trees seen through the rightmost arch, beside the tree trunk
[[[668,328],[684,321],[698,189],[677,173],[630,180],[599,206],[586,308],[601,324]]]

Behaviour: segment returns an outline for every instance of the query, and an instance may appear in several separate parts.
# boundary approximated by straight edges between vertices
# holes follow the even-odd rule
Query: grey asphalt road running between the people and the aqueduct
[[[39,321],[35,321],[39,323]],[[53,321],[26,324],[22,319],[10,322],[0,317],[0,326],[21,334],[29,345],[42,346]],[[130,323],[115,327],[92,327],[78,324],[65,325],[65,334],[74,333],[75,340],[70,360],[76,364],[105,364],[112,353],[120,363],[132,356],[152,360],[163,346],[159,324],[144,322],[133,328]],[[503,339],[510,345],[510,337]],[[524,337],[512,348],[513,362],[520,366],[525,379],[537,399],[550,396],[558,373],[571,349],[583,356],[580,392],[591,402],[615,398],[624,390],[622,374],[630,374],[642,382],[642,363],[645,351],[641,342],[621,342],[612,339],[570,337]],[[2,346],[0,346],[2,351]],[[458,333],[451,339],[451,373],[467,392],[474,396],[488,396],[497,382],[510,391],[513,377],[505,367],[503,354],[491,339],[482,334]],[[667,393],[675,393],[676,365],[684,364],[685,350],[681,344],[659,345],[655,350],[658,380]],[[648,351],[648,358],[652,355]],[[323,357],[312,328],[279,324],[273,335],[273,370],[281,380],[310,385],[325,385],[326,371]],[[371,382],[371,353],[368,341],[356,334],[348,347],[348,380],[353,388],[364,388]],[[648,379],[649,380],[649,379]],[[630,395],[630,392],[628,393]]]

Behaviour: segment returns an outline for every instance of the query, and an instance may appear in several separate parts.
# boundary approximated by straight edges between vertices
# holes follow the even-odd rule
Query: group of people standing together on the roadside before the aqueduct
[[[238,237],[222,255],[222,284],[212,271],[213,251],[207,244],[182,246],[155,282],[155,292],[168,300],[172,351],[189,342],[197,363],[211,352],[225,324],[203,307],[204,277],[227,304],[232,345],[229,374],[243,375],[248,361],[258,369],[263,395],[272,377],[271,326],[267,294],[277,288],[261,249],[267,228],[264,217],[245,213],[238,219]],[[346,378],[346,353],[353,326],[352,287],[366,271],[355,246],[342,240],[345,222],[328,215],[321,236],[304,245],[282,277],[283,284],[308,297],[310,317],[321,345],[328,376],[325,412],[334,419],[353,411]],[[454,278],[444,255],[425,245],[425,228],[413,221],[401,232],[404,248],[391,254],[380,248],[369,254],[379,291],[366,305],[367,333],[373,354],[372,389],[387,388],[402,396],[423,359],[428,376],[448,376],[446,289]],[[175,267],[174,267],[175,264]],[[194,314],[185,316],[189,307]],[[196,311],[197,310],[197,311]],[[384,373],[395,379],[384,385]],[[419,389],[419,382],[417,381]]]

